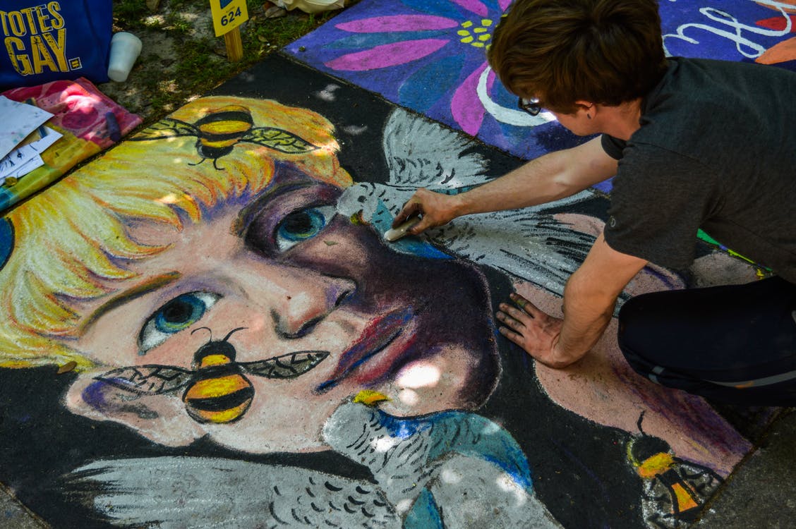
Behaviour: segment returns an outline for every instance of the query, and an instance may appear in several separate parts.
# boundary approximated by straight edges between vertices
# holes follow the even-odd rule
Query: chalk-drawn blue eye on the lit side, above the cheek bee
[[[139,352],[158,347],[174,333],[188,329],[215,305],[220,296],[209,292],[190,292],[157,309],[144,323],[139,334]]]

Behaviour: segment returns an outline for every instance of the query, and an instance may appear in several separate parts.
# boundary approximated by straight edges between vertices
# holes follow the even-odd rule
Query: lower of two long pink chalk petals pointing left
[[[344,72],[362,72],[388,68],[398,64],[406,64],[412,60],[422,59],[442,48],[449,41],[443,39],[423,39],[420,41],[403,41],[384,44],[363,52],[348,53],[337,59],[326,62],[333,70]]]

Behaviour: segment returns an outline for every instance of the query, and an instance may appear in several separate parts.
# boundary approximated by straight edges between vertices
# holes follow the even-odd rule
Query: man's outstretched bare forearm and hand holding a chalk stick
[[[393,221],[423,219],[409,230],[417,234],[447,224],[457,216],[544,204],[570,196],[616,173],[617,161],[603,150],[600,138],[572,149],[545,154],[467,193],[448,196],[418,189]]]

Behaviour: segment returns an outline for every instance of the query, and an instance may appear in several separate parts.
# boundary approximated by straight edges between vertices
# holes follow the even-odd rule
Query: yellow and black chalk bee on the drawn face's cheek
[[[193,355],[190,370],[151,364],[114,369],[96,379],[138,395],[160,395],[185,387],[182,402],[193,420],[223,424],[243,417],[252,404],[254,387],[244,372],[269,379],[292,379],[329,356],[326,351],[297,351],[239,363],[235,361],[235,348],[227,340],[241,329],[232,329],[223,340],[213,340],[211,334],[209,342]]]

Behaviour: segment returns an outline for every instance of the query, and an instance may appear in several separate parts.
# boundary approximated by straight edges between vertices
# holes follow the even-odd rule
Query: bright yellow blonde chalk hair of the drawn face
[[[178,122],[187,124],[183,132],[189,131],[209,114],[241,107],[251,114],[253,128],[282,130],[310,147],[291,151],[239,141],[228,154],[203,159],[195,135],[151,134]],[[201,223],[214,208],[244,204],[266,189],[277,161],[332,185],[352,183],[338,162],[334,127],[306,109],[262,99],[207,97],[181,107],[154,129],[121,143],[6,216],[14,229],[14,250],[0,270],[0,367],[70,361],[77,368],[92,365],[70,346],[84,319],[80,302],[103,298],[115,290],[115,280],[135,277],[124,263],[165,249],[136,243],[127,235],[131,222],[148,220],[177,230]]]

